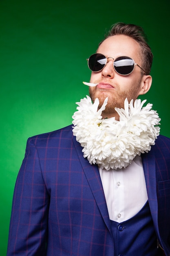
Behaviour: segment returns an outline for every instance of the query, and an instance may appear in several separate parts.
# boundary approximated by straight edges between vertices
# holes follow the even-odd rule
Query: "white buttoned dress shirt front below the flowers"
[[[148,200],[140,156],[126,168],[99,168],[110,220],[123,222],[135,216]]]

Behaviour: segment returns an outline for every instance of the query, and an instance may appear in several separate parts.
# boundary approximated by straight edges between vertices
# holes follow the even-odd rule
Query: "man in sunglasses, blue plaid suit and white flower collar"
[[[135,101],[152,83],[142,33],[113,26],[88,59],[94,104],[78,103],[74,128],[29,138],[7,256],[170,255],[170,139]]]

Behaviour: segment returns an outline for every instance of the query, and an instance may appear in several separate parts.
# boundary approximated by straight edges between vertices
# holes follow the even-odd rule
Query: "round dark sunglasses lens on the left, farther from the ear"
[[[107,59],[103,54],[95,53],[88,59],[88,67],[90,70],[97,72],[104,68]]]

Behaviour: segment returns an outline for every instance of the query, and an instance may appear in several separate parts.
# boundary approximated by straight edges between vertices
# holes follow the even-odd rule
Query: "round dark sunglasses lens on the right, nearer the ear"
[[[128,75],[134,70],[135,63],[132,58],[122,56],[116,58],[113,65],[117,73]]]

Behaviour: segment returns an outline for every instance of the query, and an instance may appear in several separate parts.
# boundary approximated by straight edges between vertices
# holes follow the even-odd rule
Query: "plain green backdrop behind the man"
[[[0,255],[5,256],[13,189],[26,140],[71,124],[88,94],[86,58],[115,22],[144,27],[154,54],[142,99],[169,130],[169,0],[0,0]]]

